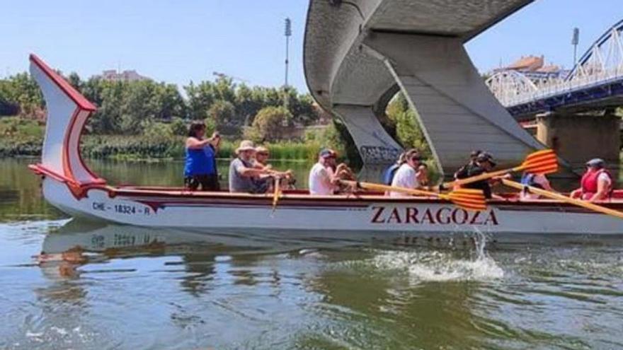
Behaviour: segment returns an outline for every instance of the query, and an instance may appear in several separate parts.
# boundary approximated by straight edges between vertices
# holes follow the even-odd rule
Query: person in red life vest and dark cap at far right
[[[608,199],[612,193],[612,175],[605,169],[600,158],[586,163],[586,173],[582,175],[581,187],[571,192],[571,198],[581,198],[588,202]]]

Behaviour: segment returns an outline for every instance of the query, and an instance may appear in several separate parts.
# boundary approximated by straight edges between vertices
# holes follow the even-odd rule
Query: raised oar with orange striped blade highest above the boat
[[[558,158],[556,158],[556,153],[554,153],[554,151],[552,151],[551,149],[542,149],[541,151],[530,153],[525,158],[523,163],[516,166],[515,168],[496,170],[490,173],[467,177],[465,179],[455,180],[452,182],[444,182],[442,185],[440,185],[440,189],[447,189],[452,188],[455,185],[465,185],[471,182],[487,180],[491,177],[501,176],[506,173],[512,173],[515,171],[526,171],[528,173],[539,175],[556,173],[558,171]]]

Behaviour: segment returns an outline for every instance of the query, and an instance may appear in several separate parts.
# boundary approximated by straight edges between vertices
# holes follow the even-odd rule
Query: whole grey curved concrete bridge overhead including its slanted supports
[[[400,147],[374,112],[398,87],[416,110],[446,174],[471,149],[515,164],[542,148],[498,103],[465,52],[466,40],[530,0],[311,0],[304,66],[314,98],[339,115],[365,163]]]

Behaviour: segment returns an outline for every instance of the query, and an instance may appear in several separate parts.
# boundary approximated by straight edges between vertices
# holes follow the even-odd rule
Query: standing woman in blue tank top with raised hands
[[[216,153],[220,136],[217,132],[210,139],[204,139],[203,136],[205,124],[202,122],[190,124],[186,139],[184,187],[194,191],[201,186],[202,191],[218,191]]]

